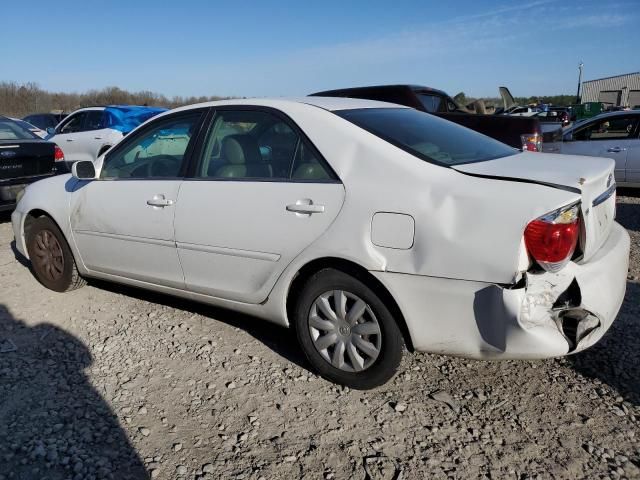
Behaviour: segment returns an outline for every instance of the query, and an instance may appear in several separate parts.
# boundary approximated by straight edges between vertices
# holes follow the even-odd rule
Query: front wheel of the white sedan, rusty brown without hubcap
[[[56,292],[68,292],[86,284],[69,244],[53,220],[37,218],[25,237],[33,274],[42,285]]]

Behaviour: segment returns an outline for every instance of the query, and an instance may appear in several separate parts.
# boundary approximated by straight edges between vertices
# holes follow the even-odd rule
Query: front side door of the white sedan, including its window
[[[158,118],[110,151],[71,197],[71,228],[94,272],[184,288],[174,215],[203,110]]]

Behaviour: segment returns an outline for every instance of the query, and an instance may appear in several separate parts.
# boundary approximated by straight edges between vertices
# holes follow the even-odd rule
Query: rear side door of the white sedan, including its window
[[[338,214],[344,187],[281,113],[216,112],[176,204],[186,287],[259,303]]]

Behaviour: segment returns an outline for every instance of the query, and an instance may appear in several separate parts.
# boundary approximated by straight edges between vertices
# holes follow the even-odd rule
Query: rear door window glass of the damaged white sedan
[[[198,178],[331,180],[330,170],[282,118],[251,110],[219,111],[207,136]]]

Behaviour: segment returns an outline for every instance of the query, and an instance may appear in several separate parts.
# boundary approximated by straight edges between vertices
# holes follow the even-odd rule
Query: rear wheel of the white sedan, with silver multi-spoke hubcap
[[[375,388],[393,377],[402,360],[402,333],[389,309],[362,281],[339,270],[324,269],[307,280],[293,322],[307,359],[332,382]]]

